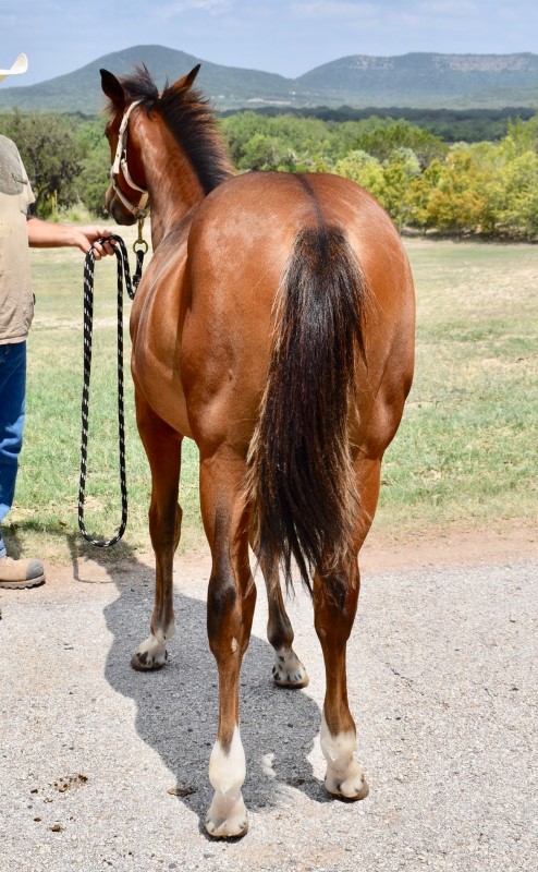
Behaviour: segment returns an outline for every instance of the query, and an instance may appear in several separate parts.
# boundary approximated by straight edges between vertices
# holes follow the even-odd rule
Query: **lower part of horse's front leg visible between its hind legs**
[[[267,638],[274,649],[272,680],[281,688],[306,688],[308,674],[293,650],[293,628],[288,617],[277,564],[260,561],[269,607]]]

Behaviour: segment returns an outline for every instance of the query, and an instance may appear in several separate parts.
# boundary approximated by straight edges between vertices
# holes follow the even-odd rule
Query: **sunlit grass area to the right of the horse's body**
[[[407,244],[416,377],[383,469],[378,524],[536,518],[536,247]]]

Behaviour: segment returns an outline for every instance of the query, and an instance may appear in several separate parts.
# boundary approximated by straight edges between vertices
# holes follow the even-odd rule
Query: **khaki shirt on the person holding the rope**
[[[26,229],[34,202],[16,145],[0,135],[0,344],[23,342],[34,316]]]

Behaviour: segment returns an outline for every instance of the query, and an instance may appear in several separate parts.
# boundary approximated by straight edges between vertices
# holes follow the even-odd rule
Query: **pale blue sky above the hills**
[[[538,53],[536,0],[1,0],[10,86],[64,75],[112,51],[160,45],[295,77],[347,55]],[[5,83],[8,84],[8,83]],[[5,86],[5,85],[4,85]]]

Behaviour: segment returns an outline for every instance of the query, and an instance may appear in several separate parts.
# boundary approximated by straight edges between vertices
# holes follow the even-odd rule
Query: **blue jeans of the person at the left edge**
[[[0,523],[13,505],[23,447],[26,342],[0,346]],[[0,532],[0,557],[5,546]]]

